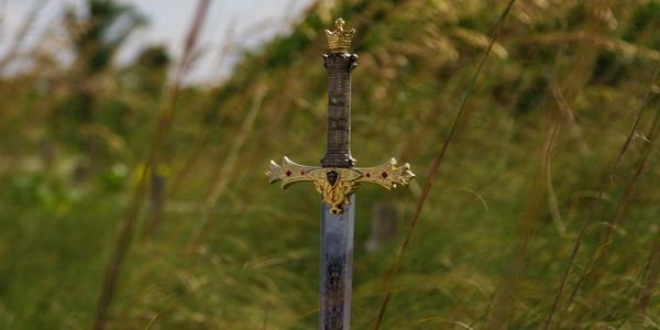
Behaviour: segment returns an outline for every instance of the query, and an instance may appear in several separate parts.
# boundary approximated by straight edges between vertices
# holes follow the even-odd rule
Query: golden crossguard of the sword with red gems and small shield
[[[350,204],[351,194],[364,183],[376,184],[387,190],[398,186],[407,185],[415,174],[410,172],[408,163],[397,166],[396,160],[375,167],[316,167],[306,166],[292,162],[284,157],[282,166],[271,161],[266,172],[271,184],[282,180],[282,188],[302,182],[310,182],[323,201],[330,205],[330,212],[339,215],[343,212],[342,205]]]

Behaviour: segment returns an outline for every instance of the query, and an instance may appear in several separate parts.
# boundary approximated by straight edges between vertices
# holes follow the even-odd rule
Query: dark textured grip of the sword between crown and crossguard
[[[351,70],[358,55],[330,53],[323,55],[328,69],[328,148],[321,160],[323,167],[352,167],[351,155]]]

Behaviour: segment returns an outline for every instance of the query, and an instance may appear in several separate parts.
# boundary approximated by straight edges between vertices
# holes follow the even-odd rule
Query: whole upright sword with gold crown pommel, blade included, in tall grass
[[[266,176],[282,188],[309,182],[321,194],[321,255],[319,285],[319,329],[351,327],[351,290],[353,276],[353,232],[355,190],[362,184],[376,184],[385,189],[407,185],[415,174],[408,163],[398,166],[395,158],[374,167],[354,167],[351,155],[351,72],[358,55],[349,53],[355,29],[344,30],[344,21],[326,30],[330,52],[323,54],[328,70],[328,147],[321,167],[292,162],[282,165],[271,161]]]

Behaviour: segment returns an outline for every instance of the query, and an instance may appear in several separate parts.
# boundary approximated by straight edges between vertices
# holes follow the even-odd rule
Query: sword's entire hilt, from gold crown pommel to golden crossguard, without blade
[[[408,163],[397,166],[396,160],[375,167],[353,167],[351,156],[351,72],[358,55],[349,54],[355,30],[344,30],[344,21],[336,21],[336,30],[326,30],[329,54],[323,55],[328,69],[328,148],[321,167],[305,166],[284,157],[282,166],[271,161],[266,176],[271,184],[282,180],[282,188],[311,182],[332,215],[343,212],[351,194],[363,183],[377,184],[386,189],[408,184],[415,174]]]

